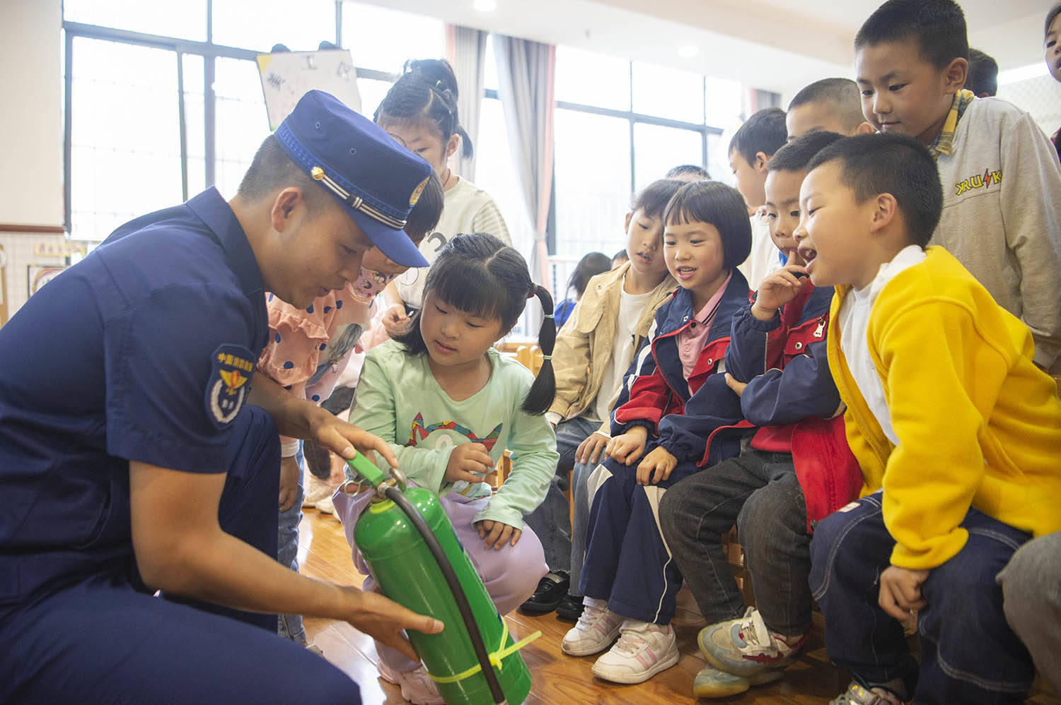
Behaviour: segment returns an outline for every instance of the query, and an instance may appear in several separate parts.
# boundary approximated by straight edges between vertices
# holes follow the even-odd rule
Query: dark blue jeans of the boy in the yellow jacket
[[[969,541],[921,586],[928,604],[918,613],[918,676],[903,628],[877,604],[881,571],[895,546],[881,492],[818,524],[811,591],[825,617],[825,650],[834,664],[868,685],[902,677],[919,705],[1024,702],[1031,657],[1006,623],[995,577],[1030,536],[975,509],[961,526]]]

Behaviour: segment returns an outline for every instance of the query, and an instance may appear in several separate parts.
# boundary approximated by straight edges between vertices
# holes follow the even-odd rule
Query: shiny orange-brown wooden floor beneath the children
[[[338,521],[313,509],[303,511],[298,552],[302,572],[343,584],[360,584],[361,576],[353,568],[350,549]],[[678,614],[674,620],[681,660],[647,683],[636,686],[613,685],[593,677],[590,667],[596,656],[573,658],[563,655],[560,640],[572,624],[557,619],[555,614],[528,617],[514,613],[507,619],[509,631],[516,638],[536,630],[542,632],[541,638],[522,651],[534,678],[527,703],[646,705],[694,702],[693,676],[706,665],[696,647],[696,634],[705,621],[688,589],[678,594]],[[358,682],[365,705],[400,705],[405,702],[397,686],[378,677],[376,649],[370,638],[345,622],[326,619],[307,619],[306,631],[310,641],[324,651],[326,658]],[[821,630],[816,625],[808,649],[798,664],[787,669],[781,682],[718,702],[762,705],[825,703],[843,690],[847,683],[847,673],[825,658]],[[1037,689],[1028,703],[1061,705],[1061,700]]]

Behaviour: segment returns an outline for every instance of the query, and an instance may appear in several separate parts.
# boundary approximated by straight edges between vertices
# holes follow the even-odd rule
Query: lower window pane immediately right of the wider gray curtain
[[[556,111],[556,254],[613,253],[626,243],[630,202],[630,123]]]

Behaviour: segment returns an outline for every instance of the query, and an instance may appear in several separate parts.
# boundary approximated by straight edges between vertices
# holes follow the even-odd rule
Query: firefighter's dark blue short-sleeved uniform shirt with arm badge
[[[267,334],[215,189],[122,226],[0,329],[0,606],[108,568],[138,582],[128,461],[225,472]]]

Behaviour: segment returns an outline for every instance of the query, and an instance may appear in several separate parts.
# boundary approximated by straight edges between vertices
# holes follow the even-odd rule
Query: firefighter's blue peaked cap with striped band
[[[402,266],[428,266],[403,228],[431,164],[320,90],[302,95],[273,136],[384,254]]]

